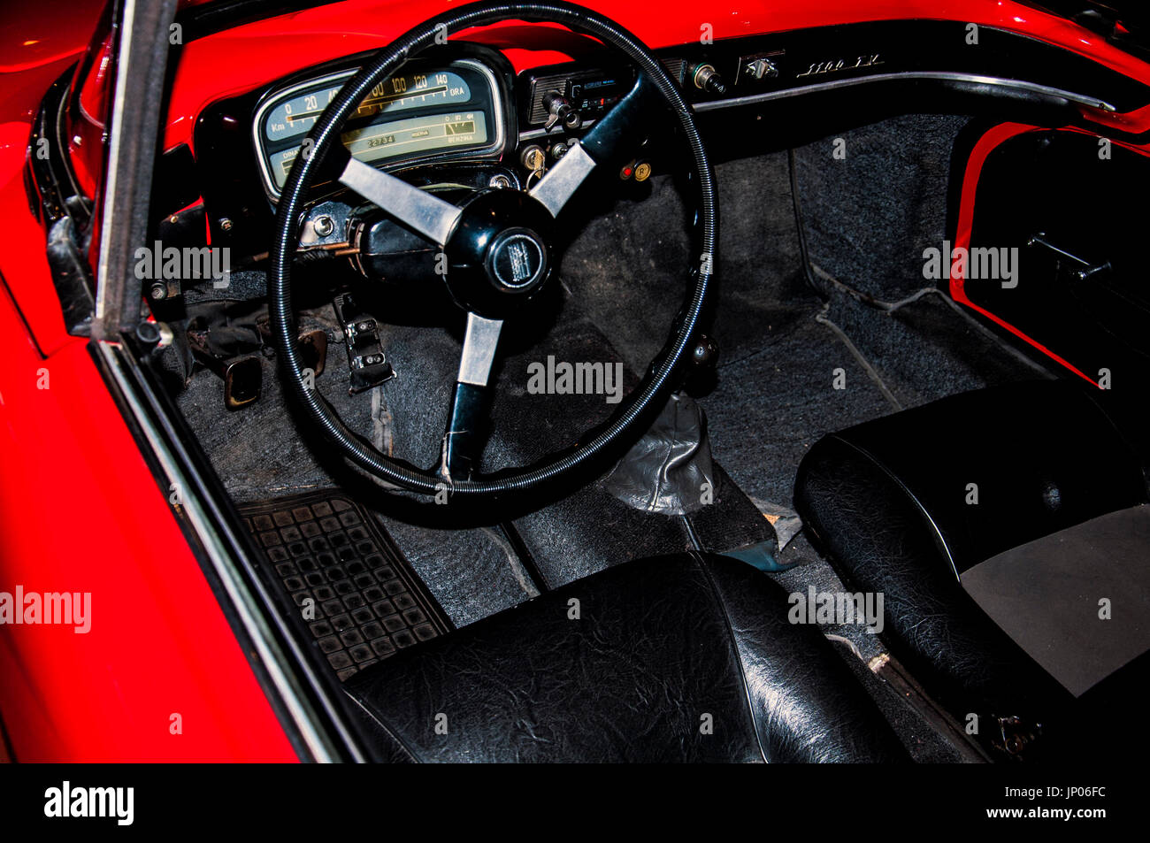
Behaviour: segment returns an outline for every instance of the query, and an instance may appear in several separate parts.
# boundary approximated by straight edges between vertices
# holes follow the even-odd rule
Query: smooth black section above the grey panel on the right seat
[[[954,574],[1026,542],[1147,500],[1143,458],[1076,383],[945,398],[833,436],[904,488]]]

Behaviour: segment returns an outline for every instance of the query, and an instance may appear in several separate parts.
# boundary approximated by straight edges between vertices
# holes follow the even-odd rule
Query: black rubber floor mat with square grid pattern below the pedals
[[[452,629],[391,536],[335,489],[245,504],[259,564],[339,680]]]

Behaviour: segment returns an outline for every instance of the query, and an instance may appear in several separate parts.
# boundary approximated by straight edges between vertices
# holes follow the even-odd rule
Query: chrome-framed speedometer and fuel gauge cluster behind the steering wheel
[[[253,136],[273,199],[288,181],[301,140],[354,74],[343,70],[274,91],[256,109]],[[412,62],[411,70],[371,89],[342,140],[353,156],[377,166],[497,150],[504,135],[499,92],[494,74],[478,61]]]

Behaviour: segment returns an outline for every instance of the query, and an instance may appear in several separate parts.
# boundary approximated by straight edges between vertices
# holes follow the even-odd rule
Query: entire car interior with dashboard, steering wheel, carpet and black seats
[[[181,13],[129,343],[365,757],[1129,751],[1150,87],[943,20],[322,37],[376,6]],[[82,243],[107,48],[37,124]]]

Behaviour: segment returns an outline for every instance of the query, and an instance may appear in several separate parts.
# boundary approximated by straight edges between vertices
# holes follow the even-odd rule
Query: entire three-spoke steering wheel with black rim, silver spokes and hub
[[[451,35],[505,20],[552,22],[597,38],[627,56],[637,68],[635,86],[596,122],[529,192],[509,187],[476,192],[461,205],[352,158],[340,141],[344,123],[368,92],[394,74],[413,55],[442,44]],[[661,102],[660,102],[661,99]],[[695,236],[698,263],[689,262],[684,305],[670,327],[662,351],[639,384],[612,417],[588,431],[580,444],[552,453],[527,467],[494,474],[475,473],[478,431],[484,427],[485,392],[503,323],[522,312],[524,302],[547,284],[557,265],[552,246],[554,220],[575,191],[596,169],[614,171],[629,160],[628,141],[642,136],[653,109],[669,108],[677,118],[690,152],[698,189]],[[490,498],[508,492],[539,492],[568,477],[597,458],[614,453],[613,445],[629,440],[661,408],[676,367],[692,345],[707,304],[718,242],[714,175],[691,109],[662,64],[634,35],[606,17],[566,2],[476,2],[443,13],[381,49],[320,116],[281,196],[271,250],[269,281],[273,337],[289,392],[315,421],[339,453],[392,490],[436,495],[448,490],[467,498]],[[634,154],[634,152],[632,152]],[[439,463],[421,469],[384,455],[346,428],[335,409],[305,377],[294,337],[291,271],[305,198],[321,162],[340,171],[339,182],[378,206],[385,214],[440,246],[447,256],[445,283],[452,300],[467,311],[467,328],[459,376],[440,444]],[[612,168],[612,169],[608,169]]]

